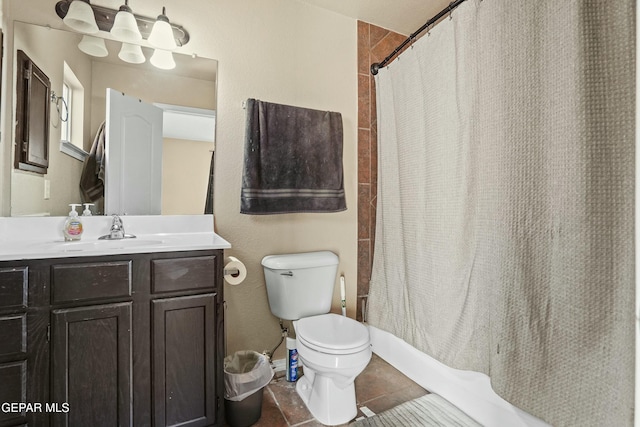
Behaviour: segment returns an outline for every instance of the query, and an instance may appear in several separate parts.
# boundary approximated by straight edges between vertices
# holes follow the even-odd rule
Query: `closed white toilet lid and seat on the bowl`
[[[369,347],[366,326],[334,313],[298,320],[296,337],[308,348],[327,354],[353,354]]]

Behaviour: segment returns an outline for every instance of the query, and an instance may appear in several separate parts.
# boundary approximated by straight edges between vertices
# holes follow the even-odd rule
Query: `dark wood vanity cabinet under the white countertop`
[[[0,427],[222,425],[222,256],[0,262]]]

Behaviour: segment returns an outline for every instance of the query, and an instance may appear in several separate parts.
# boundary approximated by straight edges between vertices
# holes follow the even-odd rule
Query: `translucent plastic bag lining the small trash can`
[[[273,378],[267,357],[251,350],[237,351],[224,358],[224,398],[244,400]]]

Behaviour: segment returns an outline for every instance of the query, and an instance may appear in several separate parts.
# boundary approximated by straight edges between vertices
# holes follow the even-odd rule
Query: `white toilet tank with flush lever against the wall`
[[[330,251],[269,255],[262,259],[271,312],[297,320],[331,310],[338,256]]]

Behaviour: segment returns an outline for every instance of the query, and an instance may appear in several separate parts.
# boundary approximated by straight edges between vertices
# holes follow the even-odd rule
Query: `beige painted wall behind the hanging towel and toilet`
[[[61,26],[53,2],[5,0],[5,18],[7,4],[16,19]],[[353,317],[357,271],[356,22],[296,0],[197,0],[188,4],[166,0],[164,5],[169,18],[191,34],[183,50],[219,60],[216,228],[233,245],[227,254],[243,260],[249,273],[242,285],[225,288],[228,351],[262,351],[279,339],[260,266],[268,254],[318,249],[336,252],[339,272],[347,283],[348,314]],[[132,6],[137,13],[153,16],[159,12],[153,0],[137,0]],[[342,113],[347,211],[239,214],[245,125],[242,101],[247,98]],[[338,294],[334,293],[336,311]],[[281,348],[276,357],[282,356]]]

